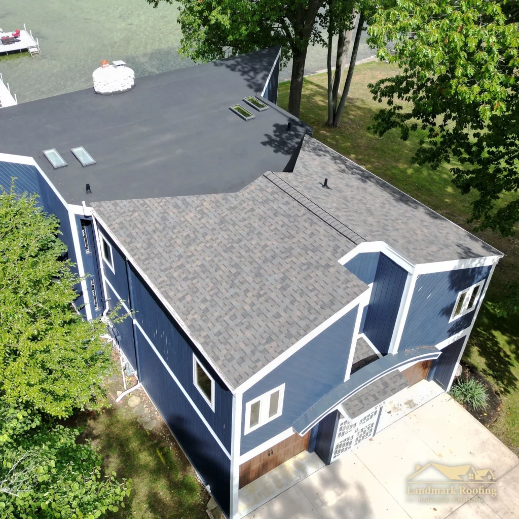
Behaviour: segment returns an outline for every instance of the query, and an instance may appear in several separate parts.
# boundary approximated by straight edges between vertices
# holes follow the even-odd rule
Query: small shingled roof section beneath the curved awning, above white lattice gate
[[[408,386],[409,383],[402,373],[395,370],[361,389],[345,400],[342,405],[351,418],[357,418]]]

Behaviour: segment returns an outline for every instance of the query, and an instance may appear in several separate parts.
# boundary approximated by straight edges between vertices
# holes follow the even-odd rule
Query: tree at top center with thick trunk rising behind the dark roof
[[[173,3],[173,0],[146,0],[153,7],[161,1]],[[308,46],[326,45],[320,27],[326,2],[180,0],[183,34],[180,53],[203,62],[281,45],[283,65],[293,60],[289,112],[299,116]]]

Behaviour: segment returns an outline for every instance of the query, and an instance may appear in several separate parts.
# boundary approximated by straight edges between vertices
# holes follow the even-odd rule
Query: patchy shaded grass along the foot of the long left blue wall
[[[120,380],[109,383],[113,395],[122,389]],[[135,394],[146,398],[142,391]],[[118,478],[132,479],[125,508],[108,517],[207,519],[208,495],[163,422],[146,431],[127,403],[114,403],[100,414],[80,417],[78,425],[85,428],[84,436],[101,448],[105,473],[115,471]]]

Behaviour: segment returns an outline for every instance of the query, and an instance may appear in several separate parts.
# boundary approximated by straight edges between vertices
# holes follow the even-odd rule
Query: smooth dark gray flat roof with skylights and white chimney
[[[309,128],[275,106],[251,108],[249,121],[229,110],[262,91],[278,51],[138,77],[122,94],[89,88],[4,108],[0,152],[34,157],[75,204],[237,191],[265,171],[283,171]],[[82,167],[70,152],[76,146],[97,163]],[[52,169],[49,148],[68,166]]]

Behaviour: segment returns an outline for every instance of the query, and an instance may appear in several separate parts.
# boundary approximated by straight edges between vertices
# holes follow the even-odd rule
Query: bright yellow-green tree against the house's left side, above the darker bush
[[[111,371],[100,320],[83,320],[56,217],[36,197],[0,193],[0,395],[52,416],[99,409]]]

